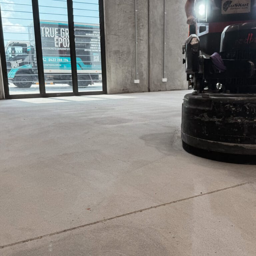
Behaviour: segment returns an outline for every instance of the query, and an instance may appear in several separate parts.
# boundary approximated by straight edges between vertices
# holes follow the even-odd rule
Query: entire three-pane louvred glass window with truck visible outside
[[[10,95],[73,92],[67,3],[38,0],[38,19],[32,8],[37,1],[0,0]],[[78,92],[103,91],[99,1],[73,0],[73,13]],[[34,20],[40,23],[45,91],[38,79]]]

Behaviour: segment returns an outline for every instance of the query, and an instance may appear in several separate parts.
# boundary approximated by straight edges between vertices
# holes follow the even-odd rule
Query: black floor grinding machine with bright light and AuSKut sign
[[[196,34],[183,46],[189,86],[183,148],[221,161],[256,158],[256,3],[196,0]]]

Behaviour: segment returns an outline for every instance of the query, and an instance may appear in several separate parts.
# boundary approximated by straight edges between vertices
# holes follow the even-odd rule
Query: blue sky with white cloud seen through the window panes
[[[68,21],[66,0],[38,0],[40,20]],[[31,0],[0,0],[5,45],[11,40],[28,41],[33,26]],[[99,24],[98,0],[73,0],[74,22]]]

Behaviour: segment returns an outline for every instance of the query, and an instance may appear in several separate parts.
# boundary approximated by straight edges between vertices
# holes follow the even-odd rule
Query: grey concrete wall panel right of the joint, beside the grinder
[[[184,11],[186,0],[166,0],[166,78],[163,78],[164,1],[149,0],[149,88],[150,91],[187,88],[182,45],[188,36]]]

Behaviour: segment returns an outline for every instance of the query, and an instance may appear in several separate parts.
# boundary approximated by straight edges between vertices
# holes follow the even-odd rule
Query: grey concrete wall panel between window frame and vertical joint
[[[148,91],[148,0],[138,0],[138,79],[135,79],[134,0],[105,0],[108,93]]]

